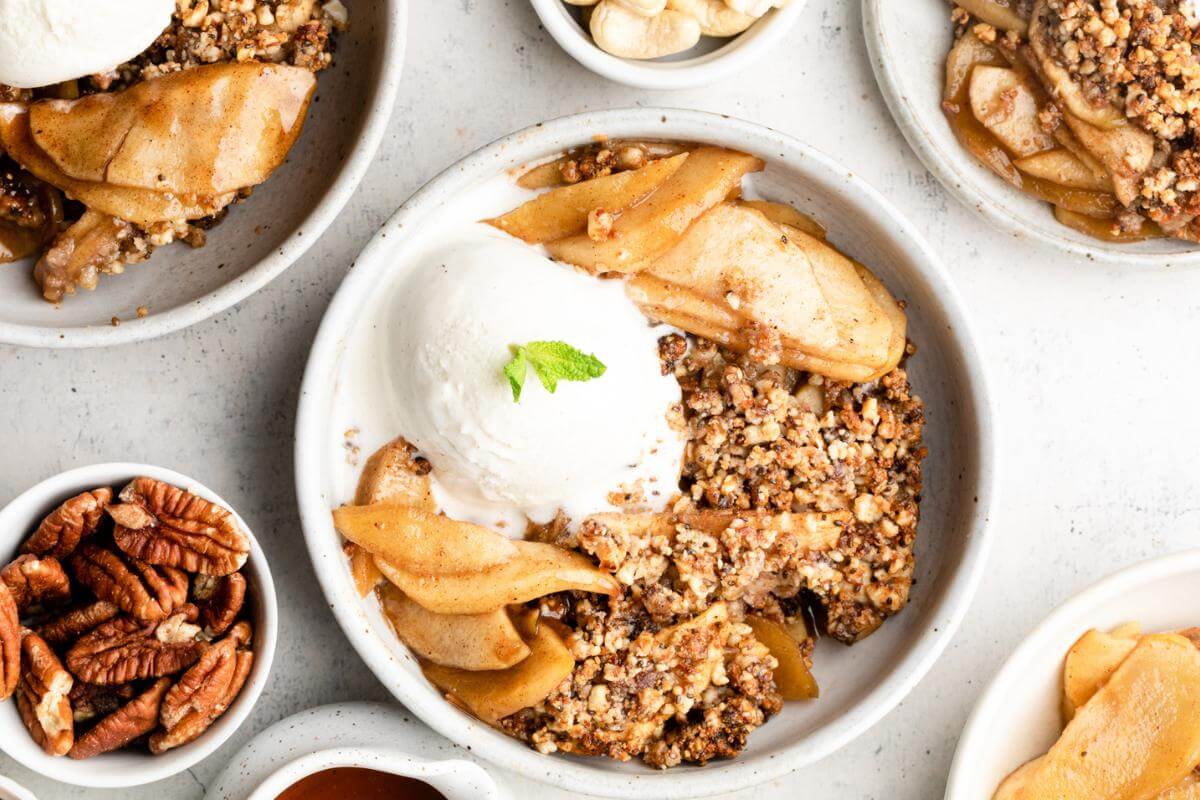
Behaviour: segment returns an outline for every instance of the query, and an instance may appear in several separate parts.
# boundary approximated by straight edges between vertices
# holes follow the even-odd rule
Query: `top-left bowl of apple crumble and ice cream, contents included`
[[[191,325],[349,199],[391,112],[404,0],[244,6],[0,0],[0,342]]]

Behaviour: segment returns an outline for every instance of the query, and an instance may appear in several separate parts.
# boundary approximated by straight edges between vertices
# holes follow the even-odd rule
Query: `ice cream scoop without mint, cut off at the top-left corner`
[[[107,72],[154,44],[174,11],[175,0],[0,0],[0,83]]]

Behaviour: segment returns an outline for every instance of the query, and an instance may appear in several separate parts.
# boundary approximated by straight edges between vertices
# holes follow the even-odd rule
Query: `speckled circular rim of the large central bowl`
[[[326,458],[329,420],[323,402],[314,398],[329,391],[329,375],[346,347],[347,330],[359,312],[361,297],[377,285],[378,273],[388,267],[386,253],[397,247],[408,229],[420,223],[422,215],[481,178],[494,175],[498,164],[541,158],[587,142],[600,131],[618,138],[707,142],[764,154],[802,172],[822,191],[844,196],[864,215],[884,225],[892,243],[908,255],[919,279],[942,305],[941,311],[953,329],[947,341],[958,348],[964,365],[965,387],[959,402],[973,410],[978,428],[978,440],[973,443],[978,504],[973,505],[970,524],[965,525],[966,540],[959,566],[940,584],[940,597],[926,610],[931,621],[919,639],[896,661],[886,680],[805,741],[703,769],[630,774],[604,769],[596,762],[542,756],[457,711],[427,684],[407,674],[404,680],[397,680],[395,662],[364,624],[359,610],[361,601],[347,578],[346,558],[324,497],[322,464]],[[300,519],[317,578],[347,638],[397,699],[438,733],[505,769],[564,789],[587,787],[589,794],[656,800],[708,796],[778,778],[842,747],[895,708],[941,655],[974,595],[989,547],[986,519],[992,504],[996,452],[984,361],[971,331],[972,325],[946,267],[917,229],[852,172],[790,136],[728,116],[667,108],[580,114],[526,128],[468,156],[413,196],[364,249],[322,320],[300,390],[295,451]]]

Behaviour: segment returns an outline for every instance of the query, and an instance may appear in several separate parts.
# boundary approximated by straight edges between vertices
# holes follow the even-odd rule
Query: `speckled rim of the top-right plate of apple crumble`
[[[916,151],[925,168],[934,174],[942,186],[964,205],[978,211],[995,228],[1013,234],[1019,239],[1036,239],[1073,255],[1112,265],[1128,266],[1194,266],[1200,264],[1200,249],[1184,248],[1177,252],[1145,253],[1130,251],[1128,245],[1104,242],[1084,243],[1064,236],[1066,230],[1055,221],[1046,204],[1046,224],[1031,223],[1018,216],[1002,199],[1016,190],[992,175],[986,168],[978,166],[965,150],[956,149],[946,152],[922,121],[922,115],[913,108],[906,95],[898,71],[904,67],[898,64],[893,53],[888,32],[880,24],[884,8],[894,0],[863,0],[863,31],[866,36],[866,48],[871,56],[871,68],[878,82],[883,98],[887,101],[892,116],[908,145]],[[947,22],[949,17],[947,16]],[[938,121],[942,122],[941,115]]]

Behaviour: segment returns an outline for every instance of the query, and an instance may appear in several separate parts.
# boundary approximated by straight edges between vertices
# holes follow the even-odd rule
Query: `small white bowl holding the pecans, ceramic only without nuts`
[[[216,492],[174,470],[133,463],[80,467],[42,481],[0,510],[0,564],[7,564],[8,560],[16,558],[17,548],[37,528],[42,518],[67,498],[100,486],[110,486],[114,492],[118,492],[131,479],[139,475],[167,481],[233,510]],[[233,735],[234,730],[250,716],[251,709],[258,702],[259,694],[263,693],[263,687],[266,686],[271,661],[275,657],[275,643],[278,638],[275,584],[266,565],[266,557],[246,521],[238,516],[236,510],[233,512],[250,536],[250,559],[246,561],[242,573],[248,583],[247,602],[252,603],[254,666],[246,685],[229,710],[199,739],[162,756],[118,751],[95,758],[74,760],[65,756],[52,758],[43,753],[22,723],[20,715],[17,714],[17,704],[8,702],[0,705],[0,750],[29,769],[62,783],[91,788],[116,788],[161,781],[176,772],[182,772],[206,758]]]

